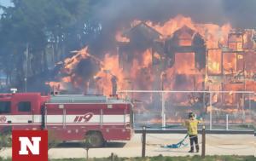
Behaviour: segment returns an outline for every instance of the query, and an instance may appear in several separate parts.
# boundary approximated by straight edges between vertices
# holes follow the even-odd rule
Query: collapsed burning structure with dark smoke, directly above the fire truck
[[[90,55],[87,47],[81,49],[71,58],[67,58],[58,64],[62,66],[58,74],[60,82],[49,82],[54,91],[86,92],[90,79],[96,74],[101,60]]]

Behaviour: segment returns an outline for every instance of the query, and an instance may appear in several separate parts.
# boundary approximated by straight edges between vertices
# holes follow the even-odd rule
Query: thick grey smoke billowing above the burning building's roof
[[[132,20],[163,23],[177,14],[189,16],[196,23],[253,28],[255,7],[255,0],[102,0],[92,10],[94,19],[102,24],[102,34],[91,46],[102,51],[113,49],[115,32],[129,26]]]

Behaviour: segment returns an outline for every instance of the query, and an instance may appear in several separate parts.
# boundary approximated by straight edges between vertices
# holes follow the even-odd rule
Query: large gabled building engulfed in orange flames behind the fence
[[[65,60],[66,71],[61,72],[63,77],[55,87],[65,88],[63,84],[68,83],[87,93],[92,90],[104,95],[126,89],[255,92],[255,37],[253,29],[195,24],[181,15],[164,24],[134,20],[131,27],[116,33],[116,49],[106,52],[102,60],[89,55],[87,49]],[[86,67],[82,66],[78,72],[84,59],[98,68],[83,72]],[[159,110],[159,94],[130,96],[134,101],[146,101],[143,110]],[[232,92],[165,95],[166,104],[172,106],[170,115],[182,106],[204,111],[209,106],[207,100],[221,112],[244,112],[256,106],[255,95]]]

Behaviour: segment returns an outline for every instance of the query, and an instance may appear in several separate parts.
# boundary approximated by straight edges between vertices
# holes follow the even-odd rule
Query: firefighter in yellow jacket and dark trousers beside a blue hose
[[[195,149],[196,152],[199,152],[199,145],[198,145],[198,132],[197,127],[198,124],[201,123],[201,120],[195,118],[195,114],[193,112],[189,112],[189,119],[186,120],[183,125],[188,129],[188,135],[190,140],[190,150],[189,152],[194,152],[194,142],[195,142]]]

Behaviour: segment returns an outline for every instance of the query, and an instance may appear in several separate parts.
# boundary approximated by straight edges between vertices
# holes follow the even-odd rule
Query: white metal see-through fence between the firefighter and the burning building
[[[135,126],[178,127],[189,112],[204,119],[208,129],[247,129],[253,123],[253,91],[121,90],[135,105]]]

